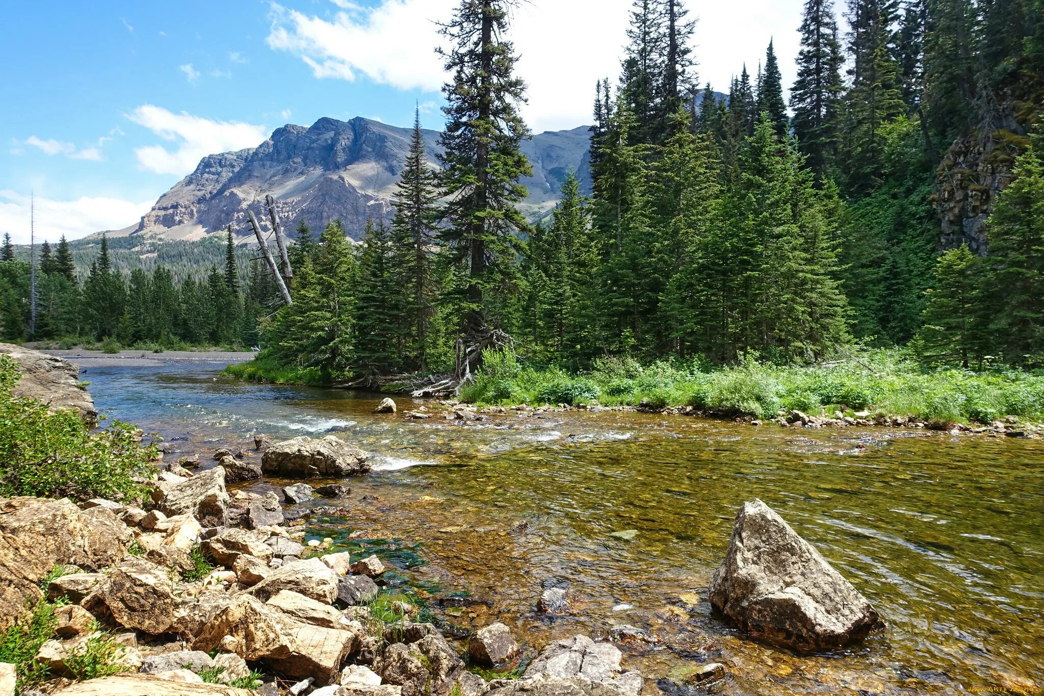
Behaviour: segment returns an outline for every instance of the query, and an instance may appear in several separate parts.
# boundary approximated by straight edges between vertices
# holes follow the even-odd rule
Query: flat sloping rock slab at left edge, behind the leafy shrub
[[[98,411],[94,400],[79,383],[79,368],[68,360],[30,351],[21,345],[0,343],[0,355],[18,363],[22,379],[11,390],[16,397],[35,399],[51,410],[73,409],[88,423],[94,423]]]

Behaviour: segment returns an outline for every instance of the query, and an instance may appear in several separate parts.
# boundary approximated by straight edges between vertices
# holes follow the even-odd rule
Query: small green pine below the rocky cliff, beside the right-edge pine
[[[924,323],[914,339],[931,365],[968,368],[982,358],[982,262],[967,244],[939,258],[934,283],[926,294]]]

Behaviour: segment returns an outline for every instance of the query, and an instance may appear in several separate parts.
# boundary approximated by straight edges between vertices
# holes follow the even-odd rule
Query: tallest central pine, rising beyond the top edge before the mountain
[[[442,54],[453,81],[443,90],[449,102],[443,185],[450,202],[440,238],[467,267],[458,275],[460,329],[472,345],[487,341],[491,323],[498,323],[517,272],[515,235],[528,230],[517,208],[525,197],[519,178],[531,167],[519,149],[529,133],[518,112],[525,85],[514,75],[517,57],[505,38],[509,4],[461,0],[442,29],[452,44]]]

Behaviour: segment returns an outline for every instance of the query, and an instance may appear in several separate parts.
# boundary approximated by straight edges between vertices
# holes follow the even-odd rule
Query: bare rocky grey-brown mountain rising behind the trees
[[[390,220],[396,183],[412,135],[409,128],[354,118],[322,118],[311,127],[285,125],[255,148],[204,158],[195,171],[167,191],[128,230],[130,235],[200,239],[229,223],[239,237],[252,235],[247,210],[262,216],[266,194],[279,201],[283,224],[292,233],[304,220],[313,230],[340,219],[359,239],[367,218]],[[434,166],[438,133],[424,130]],[[540,217],[553,208],[562,182],[576,171],[590,188],[588,128],[536,135],[523,145],[532,163],[523,208]]]

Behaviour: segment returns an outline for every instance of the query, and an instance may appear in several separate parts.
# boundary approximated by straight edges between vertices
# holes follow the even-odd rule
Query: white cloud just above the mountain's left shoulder
[[[185,175],[208,154],[255,147],[268,137],[263,125],[216,121],[185,112],[174,114],[152,104],[139,106],[127,114],[127,118],[160,138],[176,143],[173,151],[163,145],[135,150],[141,167],[158,174]]]

